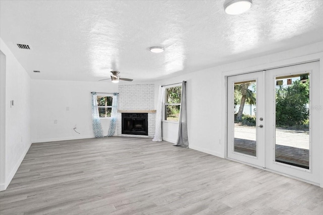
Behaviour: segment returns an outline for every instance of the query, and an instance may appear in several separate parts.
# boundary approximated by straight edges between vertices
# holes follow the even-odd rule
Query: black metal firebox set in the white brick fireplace
[[[148,113],[122,113],[122,134],[148,135]]]

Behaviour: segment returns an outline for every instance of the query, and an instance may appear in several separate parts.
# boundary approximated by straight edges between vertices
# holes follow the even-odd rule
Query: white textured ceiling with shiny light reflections
[[[32,79],[75,81],[154,81],[323,40],[323,1],[253,1],[238,16],[224,3],[1,1],[0,32]]]

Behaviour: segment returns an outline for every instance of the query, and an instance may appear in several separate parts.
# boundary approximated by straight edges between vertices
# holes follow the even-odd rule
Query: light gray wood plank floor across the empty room
[[[1,214],[323,214],[323,189],[149,138],[33,144]]]

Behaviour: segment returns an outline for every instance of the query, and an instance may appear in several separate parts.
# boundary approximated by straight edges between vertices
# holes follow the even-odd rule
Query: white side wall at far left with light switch
[[[0,49],[6,55],[5,182],[1,184],[1,190],[4,190],[14,177],[31,145],[31,79],[1,38]],[[10,107],[11,100],[14,100],[13,107]]]

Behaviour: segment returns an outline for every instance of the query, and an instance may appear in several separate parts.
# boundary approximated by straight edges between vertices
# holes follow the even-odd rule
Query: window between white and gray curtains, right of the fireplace
[[[164,120],[179,121],[182,86],[165,88]]]

